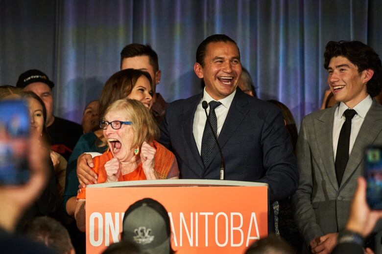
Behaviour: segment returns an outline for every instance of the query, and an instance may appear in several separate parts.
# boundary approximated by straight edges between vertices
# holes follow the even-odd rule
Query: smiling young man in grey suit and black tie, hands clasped
[[[292,196],[300,233],[311,253],[321,254],[333,250],[345,227],[363,149],[382,143],[382,106],[372,99],[382,86],[379,56],[356,41],[328,42],[324,56],[339,103],[303,119],[296,152],[300,182]]]

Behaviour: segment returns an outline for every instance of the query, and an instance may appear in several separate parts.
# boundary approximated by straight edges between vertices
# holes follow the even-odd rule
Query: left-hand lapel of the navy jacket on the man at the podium
[[[190,101],[190,104],[184,107],[182,120],[179,122],[179,127],[183,126],[183,137],[186,139],[186,144],[188,145],[187,148],[185,148],[185,151],[190,151],[190,154],[192,154],[193,159],[197,162],[199,165],[199,175],[202,175],[204,170],[204,165],[202,158],[200,157],[200,153],[198,151],[198,148],[196,146],[195,138],[193,136],[193,118],[195,115],[196,107],[198,106],[200,100],[202,99],[203,93],[200,94],[200,96],[196,96],[194,100]],[[190,158],[190,156],[187,156]],[[191,159],[191,158],[190,158]],[[192,165],[192,163],[190,164]],[[197,169],[195,169],[197,170]]]

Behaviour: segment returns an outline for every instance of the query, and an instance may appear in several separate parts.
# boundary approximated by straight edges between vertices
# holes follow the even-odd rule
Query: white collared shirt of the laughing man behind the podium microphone
[[[224,99],[218,100],[217,102],[221,102],[221,105],[215,108],[215,114],[217,119],[217,136],[219,136],[221,128],[223,127],[225,118],[227,117],[228,110],[230,109],[232,100],[234,99],[234,96],[236,94],[236,90],[225,97]],[[204,112],[204,108],[202,107],[202,102],[206,101],[207,103],[210,103],[211,101],[215,101],[206,91],[206,88],[204,88],[203,91],[203,98],[200,100],[195,115],[193,116],[193,125],[192,125],[192,132],[193,137],[196,142],[196,146],[198,148],[199,154],[200,149],[202,147],[202,138],[203,138],[203,132],[204,132],[204,126],[206,125],[207,117],[206,113]],[[207,114],[210,113],[210,106],[207,108]]]

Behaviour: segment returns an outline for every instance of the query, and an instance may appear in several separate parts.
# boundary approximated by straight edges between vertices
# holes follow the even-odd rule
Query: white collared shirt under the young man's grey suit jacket
[[[369,111],[372,103],[373,103],[373,99],[371,98],[370,95],[368,95],[365,99],[363,99],[360,103],[358,103],[357,106],[353,107],[353,109],[356,110],[357,114],[352,119],[352,130],[350,132],[349,154],[352,152],[354,142],[356,141],[356,138],[358,136],[359,129],[361,128],[363,120],[365,120],[367,111]],[[343,102],[341,102],[339,106],[337,106],[334,112],[334,123],[333,123],[334,160],[335,160],[335,155],[337,153],[339,133],[341,132],[343,123],[345,123],[345,116],[343,115],[343,112],[345,112],[346,109],[348,109],[348,106],[346,106]]]

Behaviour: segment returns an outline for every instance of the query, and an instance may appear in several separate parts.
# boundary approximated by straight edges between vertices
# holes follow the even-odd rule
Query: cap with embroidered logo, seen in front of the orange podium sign
[[[170,232],[166,209],[151,198],[132,204],[123,217],[122,240],[136,243],[148,254],[170,253]]]

